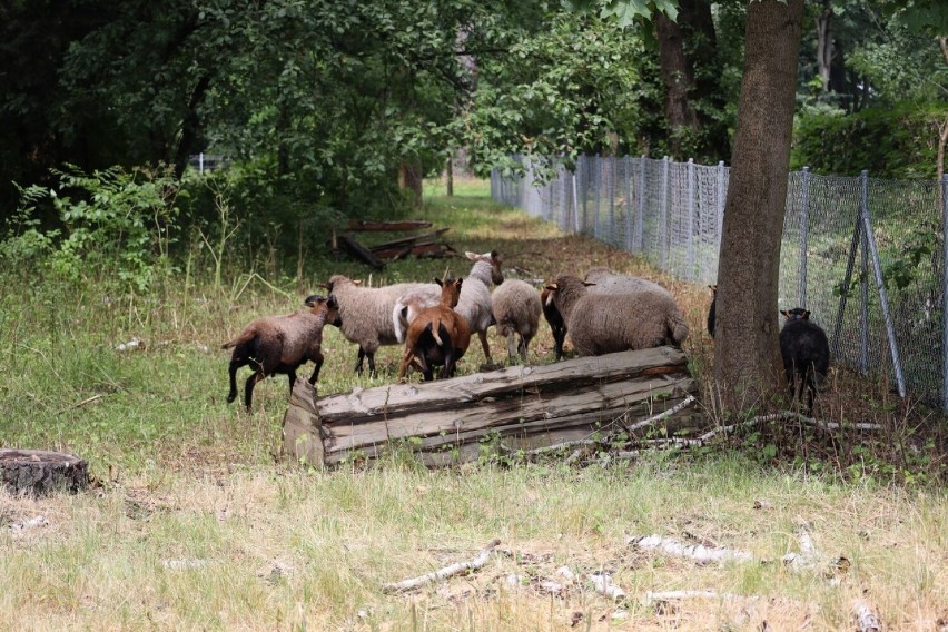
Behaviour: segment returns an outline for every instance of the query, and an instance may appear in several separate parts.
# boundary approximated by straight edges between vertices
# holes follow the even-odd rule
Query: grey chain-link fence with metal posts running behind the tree
[[[492,197],[649,260],[717,283],[730,171],[668,158],[582,157],[552,177],[491,177]],[[789,175],[779,309],[801,306],[826,329],[833,362],[886,377],[948,412],[946,217],[941,181]],[[774,318],[779,314],[774,312]]]

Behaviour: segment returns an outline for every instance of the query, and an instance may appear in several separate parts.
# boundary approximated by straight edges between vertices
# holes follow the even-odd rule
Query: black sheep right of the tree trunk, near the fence
[[[790,384],[790,396],[796,402],[806,388],[809,412],[813,409],[819,382],[829,371],[829,339],[826,332],[810,320],[808,310],[796,307],[781,314],[787,320],[780,329],[780,355]]]

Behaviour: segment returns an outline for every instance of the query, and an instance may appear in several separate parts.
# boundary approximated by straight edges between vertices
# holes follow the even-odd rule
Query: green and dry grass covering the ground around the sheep
[[[458,253],[496,248],[511,275],[530,279],[598,265],[659,278],[624,253],[491,203],[484,182],[465,186],[456,182],[453,198],[427,198],[415,214],[450,227],[444,238]],[[445,268],[463,275],[468,264],[411,259],[371,280],[426,279]],[[551,460],[425,471],[395,452],[372,468],[322,472],[279,458],[286,379],[259,385],[250,414],[228,406],[228,354],[219,347],[253,318],[300,308],[336,271],[369,280],[359,264],[323,256],[307,260],[302,279],[261,273],[266,283],[239,292],[247,271],[231,269],[223,288],[174,278],[129,299],[91,276],[65,286],[0,271],[8,369],[0,444],[75,452],[99,481],[76,496],[0,493],[0,628],[565,630],[581,613],[580,629],[757,630],[767,621],[777,630],[851,630],[856,598],[892,630],[931,630],[948,616],[944,488],[879,484],[899,480],[906,465],[872,451],[853,461],[858,437],[802,450],[796,436],[749,435],[723,448],[585,468]],[[662,280],[692,328],[685,352],[707,388],[707,290]],[[117,348],[132,338],[142,345]],[[500,338],[491,342],[502,355]],[[335,328],[325,353],[320,394],[391,382],[399,349],[379,352],[374,379],[353,374],[355,347]],[[483,361],[475,344],[460,369]],[[545,326],[530,361],[553,361]],[[241,393],[248,374],[238,376]],[[827,394],[831,421],[888,419],[882,438],[893,445],[907,438],[898,428],[915,427],[911,411],[880,397],[878,386],[843,386]],[[778,458],[760,456],[768,442],[779,444]],[[931,467],[940,458],[935,448],[922,456]],[[826,473],[811,475],[814,463]],[[50,524],[8,529],[36,515]],[[799,551],[800,521],[827,563],[840,555],[852,563],[838,586],[773,562]],[[771,563],[699,566],[625,546],[625,534],[646,533]],[[382,590],[468,560],[493,539],[511,555],[477,573],[407,596]],[[606,569],[630,596],[613,604],[584,583],[559,596],[540,591],[563,565]],[[508,584],[512,574],[521,579]],[[689,600],[662,612],[642,601],[649,591],[683,589],[761,599]],[[626,619],[613,619],[615,610]]]

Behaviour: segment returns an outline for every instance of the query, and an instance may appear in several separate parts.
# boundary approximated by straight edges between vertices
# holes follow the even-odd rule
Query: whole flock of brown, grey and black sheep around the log
[[[451,377],[474,334],[481,340],[487,363],[493,364],[487,328],[495,325],[506,339],[511,359],[526,361],[527,347],[536,335],[541,313],[553,333],[556,359],[563,357],[569,333],[581,356],[635,350],[662,345],[681,346],[689,328],[672,295],[662,286],[636,277],[593,268],[584,278],[561,275],[540,292],[526,282],[504,280],[502,257],[496,251],[466,253],[472,261],[468,275],[435,283],[403,283],[362,287],[342,275],[329,278],[328,296],[310,296],[307,312],[254,320],[223,348],[233,348],[229,366],[230,392],[237,397],[237,371],[250,365],[244,403],[253,403],[254,386],[275,374],[287,375],[289,388],[296,371],[306,362],[316,367],[309,377],[315,384],[323,365],[323,328],[339,327],[343,336],[358,345],[355,371],[362,374],[365,361],[376,374],[375,353],[382,345],[404,345],[398,379],[414,367],[424,379]],[[496,286],[491,289],[491,286]],[[712,290],[717,289],[712,286]],[[713,337],[717,294],[708,314]],[[784,312],[788,320],[780,334],[780,348],[793,397],[807,387],[809,406],[819,377],[829,365],[829,344],[809,312]]]

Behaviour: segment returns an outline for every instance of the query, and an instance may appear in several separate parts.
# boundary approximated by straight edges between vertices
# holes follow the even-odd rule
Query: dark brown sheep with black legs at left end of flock
[[[338,304],[330,296],[310,296],[306,299],[309,312],[289,316],[270,316],[254,320],[233,340],[221,348],[234,348],[230,356],[230,393],[227,403],[237,397],[237,369],[251,365],[254,374],[247,378],[244,387],[244,404],[250,409],[254,401],[254,386],[274,374],[286,374],[289,378],[289,392],[296,382],[296,369],[306,362],[316,363],[309,384],[316,384],[323,367],[323,327],[338,319]]]

